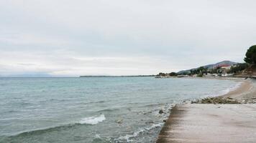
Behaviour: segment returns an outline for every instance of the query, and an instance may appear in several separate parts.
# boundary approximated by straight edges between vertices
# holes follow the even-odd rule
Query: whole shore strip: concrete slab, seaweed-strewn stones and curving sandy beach
[[[252,134],[256,132],[255,79],[231,80],[241,84],[226,94],[206,98],[214,102],[202,103],[204,99],[198,99],[198,102],[175,105],[157,143],[256,142]]]

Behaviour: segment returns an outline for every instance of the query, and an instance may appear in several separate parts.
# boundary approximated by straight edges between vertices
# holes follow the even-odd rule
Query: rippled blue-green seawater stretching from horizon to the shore
[[[0,142],[155,142],[175,104],[224,94],[237,84],[154,77],[0,78]]]

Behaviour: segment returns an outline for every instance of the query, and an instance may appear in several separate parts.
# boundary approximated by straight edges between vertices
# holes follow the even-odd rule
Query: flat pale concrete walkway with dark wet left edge
[[[163,142],[256,142],[256,104],[183,104],[159,134]]]

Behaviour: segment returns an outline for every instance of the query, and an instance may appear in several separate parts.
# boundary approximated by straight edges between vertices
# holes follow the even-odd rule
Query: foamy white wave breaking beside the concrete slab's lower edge
[[[163,123],[159,124],[152,124],[151,127],[145,127],[142,129],[139,129],[137,132],[134,132],[133,134],[126,134],[125,136],[121,136],[117,139],[114,139],[114,142],[121,142],[121,141],[126,141],[126,142],[132,142],[132,138],[139,136],[140,134],[143,134],[144,132],[149,132],[152,129],[162,127]]]

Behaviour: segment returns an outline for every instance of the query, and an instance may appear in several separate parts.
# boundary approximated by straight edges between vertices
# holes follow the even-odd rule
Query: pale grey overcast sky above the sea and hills
[[[0,76],[157,74],[256,44],[255,0],[0,0]]]

